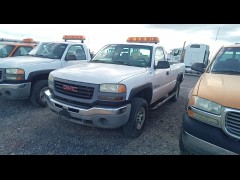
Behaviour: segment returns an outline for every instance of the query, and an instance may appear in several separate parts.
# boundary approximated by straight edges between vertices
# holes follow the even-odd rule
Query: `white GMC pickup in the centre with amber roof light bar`
[[[185,65],[170,64],[157,37],[128,38],[104,46],[86,63],[49,74],[45,100],[59,117],[100,128],[122,127],[138,137],[148,117],[176,101]]]

